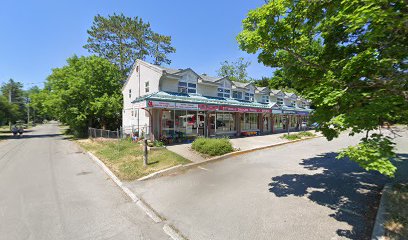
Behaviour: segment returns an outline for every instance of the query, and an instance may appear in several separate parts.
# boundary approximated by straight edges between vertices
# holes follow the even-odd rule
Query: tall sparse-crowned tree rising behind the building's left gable
[[[153,32],[150,24],[139,17],[114,14],[106,18],[98,14],[88,34],[84,48],[117,65],[123,77],[136,59],[145,60],[150,56],[155,64],[169,64],[167,54],[175,52],[170,36]]]

